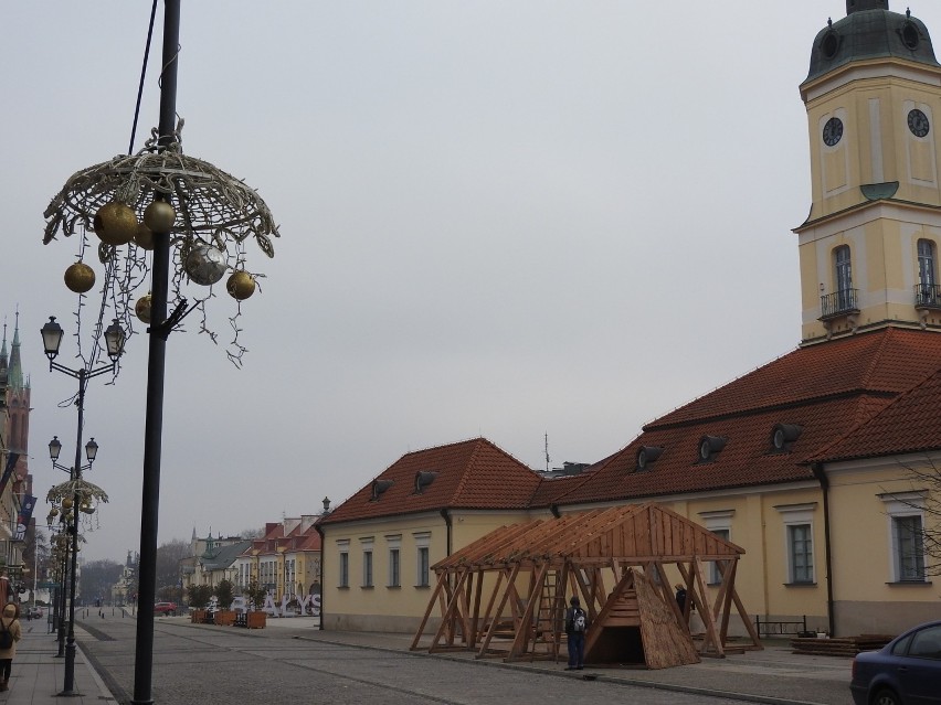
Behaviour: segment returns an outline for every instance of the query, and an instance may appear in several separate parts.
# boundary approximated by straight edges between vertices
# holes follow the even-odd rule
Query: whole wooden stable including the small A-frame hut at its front
[[[655,503],[503,526],[432,566],[437,580],[412,650],[557,661],[572,595],[589,615],[586,663],[664,669],[725,656],[732,610],[751,638],[736,650],[761,649],[736,592],[743,554]],[[709,562],[721,578],[710,586],[711,601]],[[688,596],[683,611],[674,583]],[[701,641],[689,630],[692,605],[704,624]],[[430,645],[420,645],[435,609],[437,629]]]

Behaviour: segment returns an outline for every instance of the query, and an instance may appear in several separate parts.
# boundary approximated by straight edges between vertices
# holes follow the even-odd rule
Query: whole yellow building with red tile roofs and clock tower
[[[540,477],[484,439],[404,456],[319,524],[325,629],[413,631],[427,570],[494,528],[648,501],[744,549],[736,586],[764,633],[898,633],[937,617],[924,537],[941,530],[941,65],[928,29],[854,0],[814,39],[801,96],[801,345],[573,477]]]

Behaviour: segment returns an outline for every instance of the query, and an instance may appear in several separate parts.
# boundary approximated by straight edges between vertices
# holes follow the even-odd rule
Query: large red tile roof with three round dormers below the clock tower
[[[906,420],[938,417],[940,367],[941,335],[929,331],[882,329],[800,348],[647,424],[637,439],[554,503],[636,501],[812,480],[810,463],[825,448],[827,458],[941,448],[941,429],[902,428]],[[896,399],[899,408],[890,413]],[[787,452],[772,448],[776,424],[802,428]],[[698,445],[707,435],[727,444],[713,461],[700,462]],[[642,446],[664,450],[648,469],[637,471]]]

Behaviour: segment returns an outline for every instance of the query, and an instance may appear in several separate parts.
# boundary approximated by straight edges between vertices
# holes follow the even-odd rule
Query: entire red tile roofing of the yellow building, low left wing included
[[[811,463],[941,448],[941,334],[885,328],[799,348],[647,424],[582,474],[542,479],[483,438],[410,452],[321,523],[454,509],[527,509],[641,501],[814,479]],[[772,447],[778,424],[801,428]],[[702,436],[726,439],[701,462]],[[638,471],[643,446],[663,448]],[[415,492],[419,472],[436,472]]]

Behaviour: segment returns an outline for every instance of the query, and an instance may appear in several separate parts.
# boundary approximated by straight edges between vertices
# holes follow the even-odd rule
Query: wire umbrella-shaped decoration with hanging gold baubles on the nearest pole
[[[241,366],[242,355],[247,352],[239,342],[242,300],[254,292],[258,279],[264,277],[249,270],[246,243],[254,241],[272,258],[273,238],[279,237],[279,233],[268,206],[254,189],[207,161],[183,154],[182,125],[180,120],[169,143],[159,143],[158,131],[154,129],[136,154],[121,154],[72,174],[43,214],[46,220],[43,244],[59,235],[80,235],[77,261],[65,276],[68,288],[80,293],[80,308],[85,291],[94,287],[96,278],[84,260],[89,247],[96,249],[97,260],[104,267],[99,323],[106,309],[112,308],[113,318],[131,334],[135,319],[150,323],[152,234],[144,221],[147,207],[159,195],[158,200],[176,210],[169,231],[168,307],[186,307],[188,300],[194,301],[191,310],[201,312],[200,332],[208,333],[218,344],[219,334],[210,327],[205,303],[215,298],[215,284],[229,274],[229,279],[221,284],[234,299],[235,311],[229,316],[234,338],[226,346],[226,354]],[[103,207],[113,203],[128,206],[137,218],[137,224],[131,224],[136,233],[126,245],[98,238],[96,218]],[[209,280],[203,276],[207,267],[213,275]],[[81,286],[73,286],[80,279]],[[179,317],[173,324],[179,324]]]

